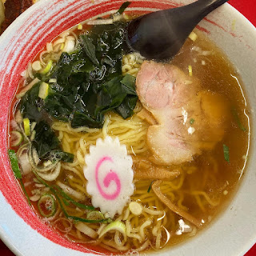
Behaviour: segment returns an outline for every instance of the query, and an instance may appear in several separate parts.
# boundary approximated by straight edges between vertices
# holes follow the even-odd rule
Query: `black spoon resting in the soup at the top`
[[[228,0],[198,0],[187,6],[159,10],[128,24],[130,48],[148,59],[173,58],[202,18]]]

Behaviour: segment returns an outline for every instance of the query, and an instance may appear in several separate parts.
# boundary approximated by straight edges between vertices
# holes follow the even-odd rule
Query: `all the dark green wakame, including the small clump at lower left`
[[[74,155],[62,152],[50,128],[53,118],[70,122],[74,128],[102,128],[104,114],[110,110],[122,118],[134,113],[135,78],[122,75],[122,55],[128,52],[125,26],[125,22],[93,26],[89,34],[78,37],[73,52],[62,53],[47,74],[34,74],[41,81],[26,92],[19,107],[23,118],[37,122],[33,146],[39,158],[73,162]],[[56,82],[49,82],[53,78]],[[42,82],[50,86],[45,99],[38,97]]]

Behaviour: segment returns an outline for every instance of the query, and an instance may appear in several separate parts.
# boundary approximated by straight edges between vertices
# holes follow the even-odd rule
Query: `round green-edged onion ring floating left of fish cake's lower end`
[[[38,201],[38,210],[43,217],[49,218],[56,213],[56,201],[51,194],[44,194]]]

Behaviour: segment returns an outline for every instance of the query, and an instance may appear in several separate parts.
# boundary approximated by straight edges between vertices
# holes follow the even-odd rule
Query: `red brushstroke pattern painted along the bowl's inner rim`
[[[2,110],[0,116],[0,170],[2,170],[0,174],[0,190],[6,202],[10,204],[14,212],[27,225],[31,226],[51,242],[83,253],[93,253],[94,249],[90,245],[85,248],[68,242],[66,238],[62,238],[34,214],[33,210],[28,206],[26,198],[22,195],[22,191],[10,170],[7,157],[9,138],[7,124],[10,115],[10,102],[14,98],[15,91],[17,90],[18,82],[21,78],[20,74],[26,69],[27,64],[33,60],[38,51],[46,45],[46,42],[50,42],[62,31],[88,18],[110,12],[111,10],[118,10],[122,2],[122,0],[95,1],[95,3],[92,3],[90,0],[52,0],[47,1],[47,4],[38,2],[30,7],[23,16],[18,18],[0,38],[0,46],[4,46],[0,50],[0,54],[2,62],[5,63],[2,66],[0,65],[0,110]],[[130,8],[145,12],[179,5],[180,1],[178,0],[158,0],[154,2],[137,0],[131,3]],[[146,8],[144,8],[145,6]],[[48,14],[49,10],[51,15]],[[226,30],[225,26],[219,25],[221,23],[213,22],[210,19],[206,21],[214,26],[218,26],[221,30]],[[210,33],[204,26],[199,26],[199,28],[207,34]],[[229,32],[231,35],[233,33],[234,37],[238,37],[232,31],[226,32]],[[3,42],[4,38],[8,38],[8,42]],[[101,250],[101,252],[104,253],[105,251]],[[96,252],[94,253],[98,254]]]

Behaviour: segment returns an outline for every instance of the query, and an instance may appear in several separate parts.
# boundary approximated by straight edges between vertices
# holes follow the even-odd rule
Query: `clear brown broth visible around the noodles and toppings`
[[[182,165],[178,166],[178,168],[182,170],[182,175],[178,176],[178,178],[174,179],[172,182],[162,182],[162,191],[164,191],[162,193],[166,194],[168,198],[174,196],[174,200],[171,200],[175,204],[181,206],[183,210],[188,211],[195,218],[203,220],[204,224],[200,228],[195,228],[192,225],[190,232],[181,235],[176,234],[178,230],[178,220],[180,220],[181,217],[172,213],[168,207],[160,202],[152,190],[148,192],[152,182],[151,180],[135,182],[137,190],[135,190],[132,200],[140,202],[145,207],[165,211],[167,221],[166,223],[162,222],[162,226],[166,229],[166,233],[162,233],[160,247],[165,245],[172,246],[186,241],[186,239],[193,237],[199,230],[203,230],[210,222],[214,221],[214,218],[225,209],[226,202],[229,202],[230,198],[232,198],[237,190],[242,175],[245,173],[246,160],[248,157],[250,138],[250,122],[248,116],[250,115],[250,106],[248,102],[246,102],[246,98],[244,98],[245,93],[243,92],[241,78],[238,71],[229,62],[225,54],[214,46],[213,42],[210,42],[200,31],[195,30],[195,33],[198,34],[197,40],[193,42],[188,39],[180,54],[178,54],[171,63],[178,66],[186,74],[188,73],[188,66],[192,66],[193,76],[200,80],[204,90],[210,90],[225,95],[226,101],[230,103],[230,124],[225,130],[222,142],[218,142],[214,150],[206,151],[202,155],[195,157],[193,162],[182,163]],[[192,50],[194,46],[207,52],[207,54],[198,54],[197,50]],[[145,122],[144,126],[149,125]],[[56,134],[59,135],[57,130]],[[73,143],[75,143],[75,141]],[[227,162],[224,158],[223,144],[229,148],[230,162]],[[74,151],[72,146],[71,149]],[[133,158],[135,160],[136,158],[147,159],[150,155],[151,153],[148,150],[137,156],[134,155]],[[152,165],[154,166],[154,163],[152,163]],[[138,168],[138,166],[134,164],[135,172],[136,168]],[[173,166],[168,166],[167,169],[168,168],[172,170]],[[69,175],[70,172],[68,170],[62,169],[62,173],[58,176],[57,180],[62,183],[68,183]],[[23,176],[23,183],[28,184],[26,186],[26,192],[29,196],[33,195],[31,191],[36,187],[34,178],[33,173]],[[56,184],[56,182],[48,183],[51,186]],[[180,186],[180,188],[168,190],[170,183],[173,186]],[[144,192],[138,193],[138,191]],[[205,193],[206,196],[210,198],[210,202],[213,203],[211,204],[207,201],[205,195],[198,193],[198,191]],[[146,195],[146,197],[141,198],[142,195]],[[149,198],[150,200],[148,200]],[[86,199],[80,201],[80,203],[90,205],[90,198],[86,196]],[[42,218],[40,212],[38,212],[38,202],[32,202],[32,208],[37,212],[38,218]],[[74,211],[75,206],[70,206],[70,208],[72,208],[70,211]],[[60,216],[64,218],[63,214]],[[43,219],[46,220],[46,218]],[[134,220],[134,225],[136,225],[136,222],[145,222],[145,218],[142,217]],[[74,226],[70,230],[70,234],[60,231],[68,226],[65,221],[56,222],[56,219],[54,219],[53,221],[48,221],[48,223],[50,226],[53,226],[54,230],[59,234],[71,241],[78,243],[81,241],[91,241],[86,235],[77,235],[77,230]],[[92,225],[92,228],[97,230],[98,224]],[[154,247],[156,238],[151,232],[152,228],[153,226],[146,229],[146,237],[148,237],[151,245]],[[169,239],[167,239],[168,234],[170,234]],[[106,236],[106,239],[113,239],[113,235],[114,234],[109,234]],[[128,239],[130,248],[133,248],[133,245],[135,245],[135,247],[141,246],[141,243],[134,241],[133,238]],[[81,242],[81,246],[87,246],[87,244]],[[102,247],[100,248],[100,246],[100,244],[96,245],[94,250],[107,251],[106,246],[103,246],[103,249]],[[147,248],[149,249],[150,246]],[[113,253],[115,254],[116,251],[113,251]]]

